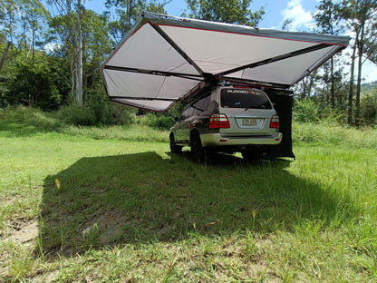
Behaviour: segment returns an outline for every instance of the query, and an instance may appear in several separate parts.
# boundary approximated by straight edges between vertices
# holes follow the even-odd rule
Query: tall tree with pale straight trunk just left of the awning
[[[78,105],[84,102],[87,83],[92,82],[89,77],[111,51],[108,18],[86,10],[82,3],[53,0],[59,15],[50,21],[51,43],[58,46],[56,52],[71,60],[71,93]]]

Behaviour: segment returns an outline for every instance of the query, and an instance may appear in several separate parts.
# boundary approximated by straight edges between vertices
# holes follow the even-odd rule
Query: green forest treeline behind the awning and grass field
[[[106,0],[102,15],[84,0],[0,0],[0,108],[24,105],[92,123],[130,122],[135,110],[108,102],[100,65],[143,10],[166,13],[171,0]],[[268,13],[252,0],[186,0],[184,16],[258,26]],[[294,87],[298,120],[333,117],[377,123],[376,82],[362,82],[362,64],[377,63],[377,0],[322,0],[310,32],[350,34],[336,54]],[[282,29],[290,30],[287,18]],[[305,113],[311,113],[306,115]],[[298,118],[297,118],[298,117]],[[301,118],[300,118],[301,117]]]

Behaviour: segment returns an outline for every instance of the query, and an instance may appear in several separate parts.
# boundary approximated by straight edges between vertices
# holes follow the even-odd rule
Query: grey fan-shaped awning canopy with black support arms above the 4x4
[[[214,81],[287,89],[348,41],[143,12],[104,61],[102,81],[111,101],[165,112]]]

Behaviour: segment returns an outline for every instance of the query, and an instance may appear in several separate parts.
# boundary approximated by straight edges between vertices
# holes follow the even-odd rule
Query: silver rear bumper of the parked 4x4
[[[224,137],[220,133],[204,133],[200,135],[203,146],[235,146],[248,144],[279,144],[282,141],[283,134],[275,132],[270,136],[247,136],[247,137]]]

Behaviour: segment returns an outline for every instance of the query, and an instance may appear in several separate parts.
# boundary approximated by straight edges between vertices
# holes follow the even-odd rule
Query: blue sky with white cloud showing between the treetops
[[[88,1],[86,7],[101,13],[101,10],[104,10],[103,2]],[[313,14],[319,2],[320,0],[253,0],[251,7],[254,11],[259,10],[261,6],[265,9],[266,14],[259,23],[261,28],[282,29],[285,19],[290,19],[290,31],[310,32],[314,28]],[[179,16],[185,12],[187,4],[185,0],[172,0],[164,8],[169,15]],[[351,53],[351,48],[343,51],[343,54],[347,53]],[[377,81],[377,66],[370,62],[363,63],[362,77],[366,83]]]

